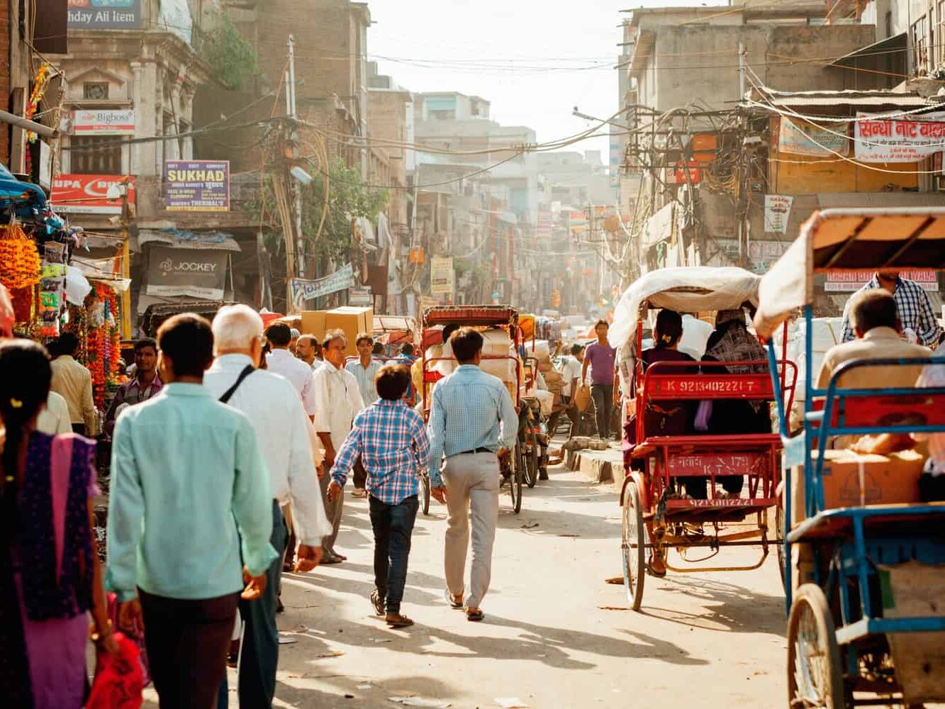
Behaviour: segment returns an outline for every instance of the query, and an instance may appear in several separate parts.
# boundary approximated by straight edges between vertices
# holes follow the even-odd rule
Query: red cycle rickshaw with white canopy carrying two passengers
[[[704,401],[741,400],[757,402],[761,409],[775,398],[766,360],[725,362],[724,367],[714,364],[707,369],[691,361],[644,367],[641,357],[644,320],[651,309],[699,315],[738,310],[757,303],[759,281],[759,276],[742,268],[662,268],[636,281],[618,303],[610,341],[618,351],[622,388],[632,392],[625,396],[622,417],[621,551],[627,600],[635,611],[643,600],[647,553],[677,573],[747,571],[765,562],[772,545],[780,548],[772,528],[777,526],[769,518],[778,508],[782,442],[777,434],[769,429],[737,435],[655,435],[644,426],[647,410],[670,406],[669,402],[698,406]],[[726,368],[734,366],[748,372],[728,373]],[[770,366],[781,382],[780,392],[786,391],[791,399],[797,367],[783,357]],[[747,478],[747,496],[718,493],[717,478],[722,476]],[[682,493],[686,481],[695,477],[708,481],[705,499]],[[731,546],[758,546],[760,558],[750,565],[713,568],[674,565],[668,559],[669,550],[675,549],[685,562],[704,562]]]

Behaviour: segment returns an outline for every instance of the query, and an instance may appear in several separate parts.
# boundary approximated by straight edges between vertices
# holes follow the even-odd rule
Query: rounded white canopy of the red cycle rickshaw
[[[670,308],[679,313],[733,310],[742,303],[758,303],[761,277],[744,268],[684,266],[650,271],[621,296],[610,327],[610,345],[632,351],[637,323],[649,308]]]

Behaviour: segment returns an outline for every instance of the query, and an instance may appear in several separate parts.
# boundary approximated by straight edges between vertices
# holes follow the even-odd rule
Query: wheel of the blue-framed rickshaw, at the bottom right
[[[805,709],[848,706],[833,614],[815,583],[798,589],[787,620],[787,701]]]

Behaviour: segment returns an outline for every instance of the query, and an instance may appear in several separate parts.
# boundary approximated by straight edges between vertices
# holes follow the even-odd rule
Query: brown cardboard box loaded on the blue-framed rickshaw
[[[877,456],[835,450],[826,451],[825,458],[823,488],[827,510],[921,501],[919,476],[925,467],[925,456],[919,451]],[[792,526],[805,517],[803,500],[803,467],[798,467],[791,477]]]

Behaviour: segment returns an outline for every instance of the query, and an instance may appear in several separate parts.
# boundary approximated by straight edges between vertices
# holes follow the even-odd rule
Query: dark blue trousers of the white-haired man
[[[279,503],[272,503],[272,536],[269,544],[283,549],[288,529]],[[282,557],[266,570],[266,591],[256,600],[239,602],[239,614],[246,628],[240,644],[239,704],[245,709],[268,707],[276,695],[276,668],[279,666],[279,629],[276,627],[276,598],[282,580]],[[227,697],[227,678],[224,674],[220,694]],[[225,703],[220,704],[226,706]]]

